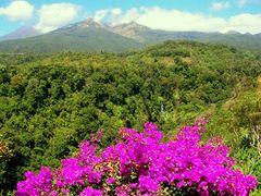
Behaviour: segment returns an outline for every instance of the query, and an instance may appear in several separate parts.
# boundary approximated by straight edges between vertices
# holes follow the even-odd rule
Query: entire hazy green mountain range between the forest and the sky
[[[23,30],[22,30],[23,32]],[[26,30],[24,30],[26,33]],[[12,34],[11,34],[12,35]],[[14,34],[20,35],[20,34]],[[23,34],[24,36],[26,34]],[[15,36],[9,36],[10,39]],[[17,36],[16,36],[17,37]],[[71,24],[45,35],[0,42],[0,52],[107,51],[121,52],[165,40],[217,42],[249,50],[260,50],[261,34],[167,32],[151,29],[135,22],[111,26],[92,19]]]

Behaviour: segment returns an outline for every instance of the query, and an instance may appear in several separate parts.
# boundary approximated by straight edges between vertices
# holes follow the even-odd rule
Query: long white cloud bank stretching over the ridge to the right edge
[[[166,10],[159,7],[132,8],[119,15],[111,16],[113,25],[135,21],[154,29],[261,33],[261,14],[238,14],[228,19],[179,10]],[[102,20],[102,19],[101,19]]]

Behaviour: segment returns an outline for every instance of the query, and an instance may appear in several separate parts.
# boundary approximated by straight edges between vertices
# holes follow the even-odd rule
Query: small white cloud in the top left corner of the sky
[[[34,7],[27,1],[12,1],[7,8],[0,8],[0,15],[11,21],[26,21],[33,16]]]

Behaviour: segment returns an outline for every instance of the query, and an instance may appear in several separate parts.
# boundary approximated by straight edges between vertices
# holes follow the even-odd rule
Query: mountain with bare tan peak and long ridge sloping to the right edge
[[[165,40],[182,39],[202,42],[217,42],[250,50],[257,50],[261,48],[261,34],[240,34],[235,30],[229,30],[226,34],[202,32],[169,32],[150,29],[134,22],[115,26],[114,29],[114,33],[136,39],[146,45],[158,44]]]

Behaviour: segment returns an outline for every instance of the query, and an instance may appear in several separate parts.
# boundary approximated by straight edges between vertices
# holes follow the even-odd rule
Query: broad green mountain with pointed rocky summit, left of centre
[[[4,52],[108,51],[140,48],[142,44],[108,29],[109,26],[87,20],[45,35],[0,42]]]

